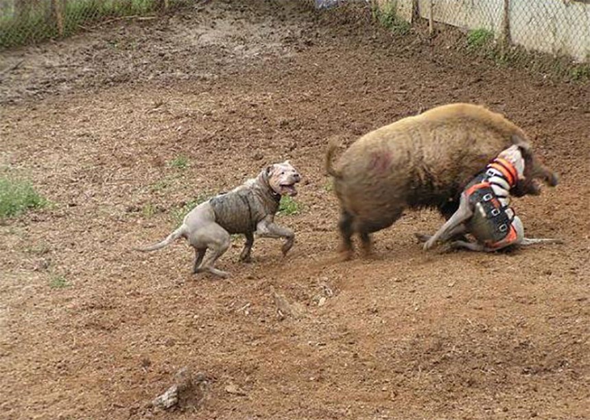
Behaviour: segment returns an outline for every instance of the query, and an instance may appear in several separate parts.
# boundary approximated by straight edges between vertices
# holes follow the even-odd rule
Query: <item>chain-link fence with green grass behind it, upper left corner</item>
[[[190,0],[0,0],[0,48],[60,38],[115,18],[139,18]]]

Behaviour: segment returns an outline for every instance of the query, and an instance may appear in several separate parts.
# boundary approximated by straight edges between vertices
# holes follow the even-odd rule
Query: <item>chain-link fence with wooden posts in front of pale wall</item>
[[[370,0],[380,21],[466,33],[464,47],[498,62],[590,78],[590,0]],[[384,14],[386,18],[384,18]],[[399,26],[399,24],[398,24]]]

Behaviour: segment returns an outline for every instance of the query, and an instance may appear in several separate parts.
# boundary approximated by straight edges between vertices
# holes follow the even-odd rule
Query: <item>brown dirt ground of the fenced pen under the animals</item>
[[[214,0],[1,53],[1,173],[52,205],[0,225],[0,418],[590,418],[590,86],[453,42],[360,8]],[[327,139],[453,101],[530,134],[561,184],[515,208],[565,244],[425,253],[413,234],[441,219],[407,212],[374,258],[340,262]],[[277,217],[287,258],[259,239],[241,264],[239,238],[219,280],[180,240],[130,250],[287,158],[304,177],[300,213]],[[281,317],[271,286],[303,314]],[[150,408],[185,366],[207,376],[200,406]]]

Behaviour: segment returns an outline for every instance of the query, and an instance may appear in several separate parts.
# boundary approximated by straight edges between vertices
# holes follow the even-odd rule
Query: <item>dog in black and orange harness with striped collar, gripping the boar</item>
[[[431,249],[437,242],[448,242],[461,234],[471,234],[475,243],[452,240],[451,247],[493,252],[511,245],[563,243],[560,239],[525,238],[522,221],[510,207],[510,191],[524,179],[525,159],[513,145],[489,163],[464,189],[458,210],[429,236],[416,234]]]

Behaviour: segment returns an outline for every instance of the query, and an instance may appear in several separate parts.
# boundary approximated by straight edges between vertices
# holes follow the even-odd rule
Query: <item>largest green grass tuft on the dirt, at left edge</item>
[[[0,177],[0,218],[19,216],[46,205],[47,200],[29,182]]]

